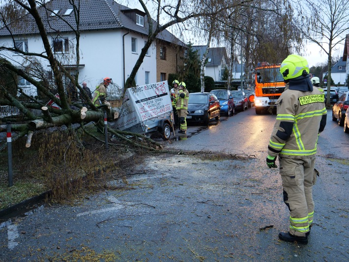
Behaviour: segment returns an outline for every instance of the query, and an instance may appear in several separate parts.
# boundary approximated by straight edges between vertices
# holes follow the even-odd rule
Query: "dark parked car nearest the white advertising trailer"
[[[221,116],[221,106],[213,93],[191,93],[188,101],[187,122],[204,122],[208,125],[211,119],[217,121]]]

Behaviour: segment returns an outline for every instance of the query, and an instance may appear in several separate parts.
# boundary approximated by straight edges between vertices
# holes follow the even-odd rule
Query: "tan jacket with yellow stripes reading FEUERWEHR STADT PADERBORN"
[[[297,159],[314,156],[318,136],[326,125],[323,92],[317,88],[290,90],[288,83],[276,105],[277,117],[268,154]]]

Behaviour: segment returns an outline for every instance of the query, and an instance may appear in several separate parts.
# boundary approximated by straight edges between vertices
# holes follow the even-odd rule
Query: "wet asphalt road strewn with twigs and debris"
[[[349,135],[328,111],[309,243],[285,243],[281,178],[264,164],[274,121],[249,109],[190,126],[165,148],[226,155],[150,156],[117,190],[13,218],[0,226],[0,261],[349,261]]]

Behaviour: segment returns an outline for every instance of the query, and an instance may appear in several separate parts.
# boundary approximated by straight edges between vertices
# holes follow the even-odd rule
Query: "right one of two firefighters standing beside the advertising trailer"
[[[180,121],[179,133],[186,133],[187,131],[187,121],[186,116],[188,114],[188,100],[189,100],[189,92],[186,89],[185,83],[179,83],[179,91],[178,97],[176,99],[176,109],[178,113],[178,118]]]

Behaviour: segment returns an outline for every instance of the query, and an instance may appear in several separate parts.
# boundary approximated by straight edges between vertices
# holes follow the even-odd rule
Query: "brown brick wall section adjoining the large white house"
[[[160,47],[166,47],[166,59],[160,59]],[[156,81],[160,82],[160,74],[166,73],[166,80],[169,74],[178,72],[178,66],[182,65],[184,57],[184,49],[178,45],[169,42],[156,40]]]

